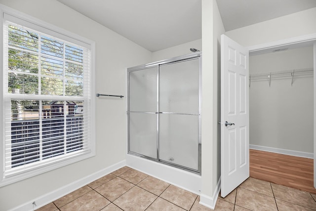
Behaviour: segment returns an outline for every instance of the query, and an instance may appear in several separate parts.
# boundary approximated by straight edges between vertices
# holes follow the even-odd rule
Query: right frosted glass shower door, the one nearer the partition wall
[[[190,59],[159,67],[159,160],[198,170],[198,66]]]

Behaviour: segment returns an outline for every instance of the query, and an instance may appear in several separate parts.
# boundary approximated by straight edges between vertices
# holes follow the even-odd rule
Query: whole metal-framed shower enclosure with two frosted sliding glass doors
[[[201,52],[127,69],[128,153],[200,173]]]

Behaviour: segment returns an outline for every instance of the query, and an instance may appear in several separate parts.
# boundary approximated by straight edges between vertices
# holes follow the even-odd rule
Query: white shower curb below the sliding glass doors
[[[126,166],[156,177],[197,195],[201,192],[201,176],[134,155],[126,155]]]

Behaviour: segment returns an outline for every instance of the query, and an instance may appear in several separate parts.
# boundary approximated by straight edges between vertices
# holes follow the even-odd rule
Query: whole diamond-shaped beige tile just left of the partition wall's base
[[[169,187],[163,191],[160,197],[185,210],[190,210],[197,199],[196,194],[178,188],[174,185],[169,185]]]

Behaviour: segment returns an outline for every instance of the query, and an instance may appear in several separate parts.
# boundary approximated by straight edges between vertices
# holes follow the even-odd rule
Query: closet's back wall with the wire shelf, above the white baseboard
[[[249,72],[313,68],[313,46],[250,56]],[[305,75],[305,74],[304,74]],[[250,144],[313,153],[313,72],[253,80],[249,89]]]

